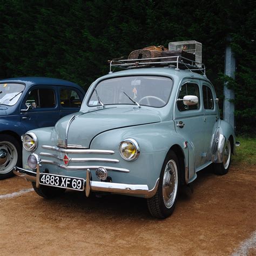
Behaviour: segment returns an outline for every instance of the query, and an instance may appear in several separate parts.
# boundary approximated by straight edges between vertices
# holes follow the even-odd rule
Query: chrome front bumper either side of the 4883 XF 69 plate
[[[24,178],[27,181],[32,181],[36,183],[36,186],[39,187],[39,176],[40,169],[37,165],[36,172],[22,169],[20,167],[14,166],[14,174],[19,177]],[[123,183],[111,183],[105,181],[93,181],[90,180],[91,172],[89,169],[86,170],[86,179],[84,179],[84,191],[86,197],[89,197],[90,191],[93,192],[110,192],[116,194],[126,194],[134,196],[143,196],[144,198],[151,198],[156,194],[159,179],[157,179],[156,184],[152,190],[149,190],[147,185],[138,185],[138,184],[123,184]]]

